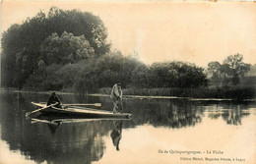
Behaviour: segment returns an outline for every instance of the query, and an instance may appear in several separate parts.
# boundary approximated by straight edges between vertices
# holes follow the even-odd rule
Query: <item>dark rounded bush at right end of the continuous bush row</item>
[[[183,62],[154,63],[150,67],[151,87],[199,87],[207,84],[204,69]]]

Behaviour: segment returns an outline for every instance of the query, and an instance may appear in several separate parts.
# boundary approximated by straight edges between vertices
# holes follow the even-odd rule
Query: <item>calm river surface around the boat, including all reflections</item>
[[[47,94],[0,93],[0,163],[256,163],[256,103],[124,98],[130,120],[63,122],[26,118]],[[63,103],[109,97],[59,95]]]

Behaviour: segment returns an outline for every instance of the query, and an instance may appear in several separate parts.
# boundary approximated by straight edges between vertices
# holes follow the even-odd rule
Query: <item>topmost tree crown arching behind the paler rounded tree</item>
[[[58,35],[64,31],[72,32],[79,36],[84,34],[97,56],[109,51],[110,44],[106,41],[107,31],[99,17],[89,12],[74,9],[65,11],[52,7],[48,12],[47,27],[51,33]],[[48,33],[49,35],[50,33]]]

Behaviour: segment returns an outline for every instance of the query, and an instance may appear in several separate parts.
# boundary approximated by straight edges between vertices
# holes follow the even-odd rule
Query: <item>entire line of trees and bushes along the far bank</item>
[[[110,51],[106,39],[102,21],[91,13],[55,7],[39,12],[3,33],[2,86],[85,93],[121,81],[133,89],[202,89],[209,83],[236,85],[250,70],[240,54],[223,64],[211,62],[208,70],[179,61],[148,66],[133,55]]]

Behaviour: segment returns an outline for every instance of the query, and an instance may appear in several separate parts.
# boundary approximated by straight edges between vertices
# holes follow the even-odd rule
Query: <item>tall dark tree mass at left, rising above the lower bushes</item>
[[[110,48],[106,37],[102,21],[91,13],[55,7],[47,15],[39,12],[22,25],[13,25],[3,33],[1,55],[5,74],[2,74],[2,84],[22,88],[42,62],[62,63],[68,59],[73,62],[81,55],[82,58],[101,56]],[[58,60],[58,55],[64,61],[42,61],[49,56],[47,60]]]

